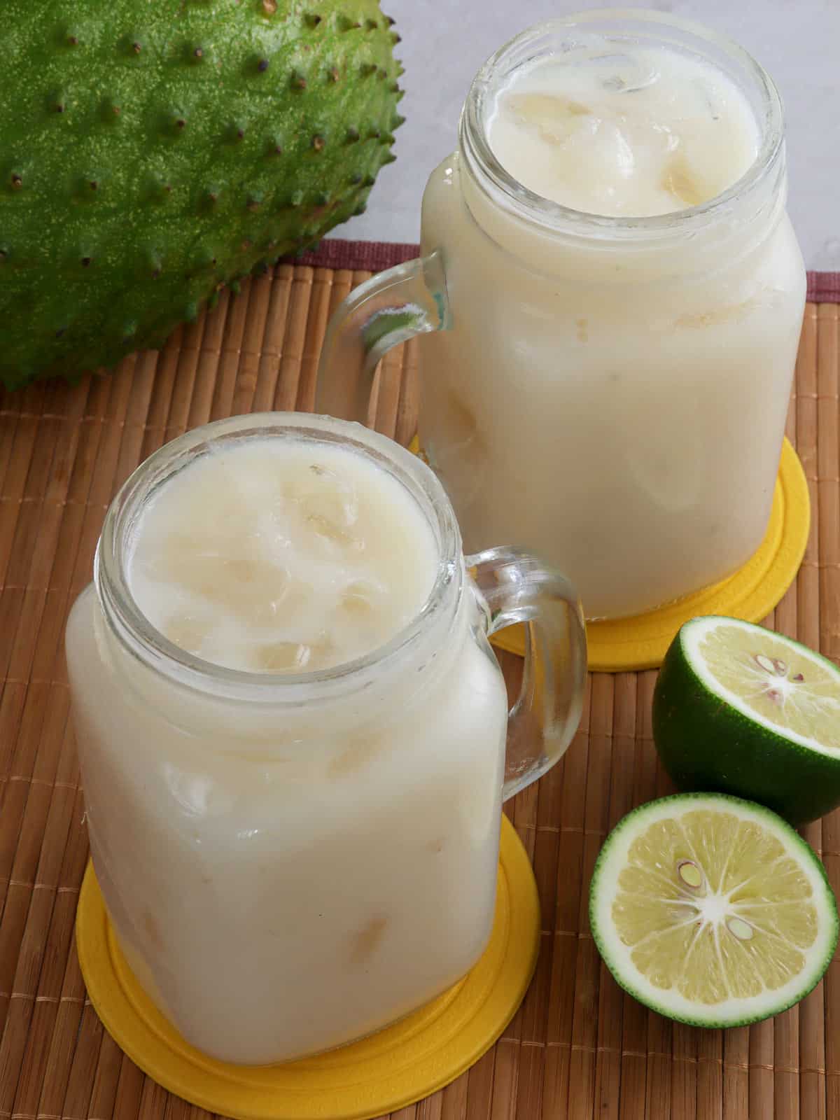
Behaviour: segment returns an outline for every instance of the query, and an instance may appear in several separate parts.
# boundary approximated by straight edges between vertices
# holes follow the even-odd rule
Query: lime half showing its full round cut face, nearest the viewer
[[[595,865],[589,921],[622,988],[699,1027],[791,1007],[838,937],[811,848],[768,809],[720,793],[662,797],[619,821]]]

